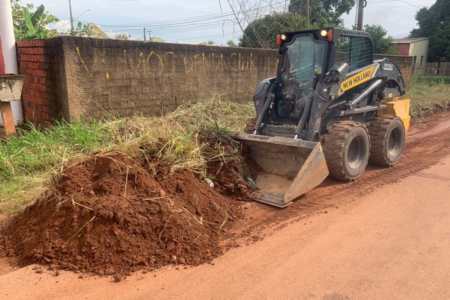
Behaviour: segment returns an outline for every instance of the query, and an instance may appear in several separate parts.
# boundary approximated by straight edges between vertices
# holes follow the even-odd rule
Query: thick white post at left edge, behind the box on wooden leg
[[[18,74],[17,53],[15,49],[14,27],[12,26],[11,1],[0,0],[0,39],[6,73]],[[11,101],[12,115],[15,125],[23,123],[21,101]],[[3,121],[0,117],[0,125]]]

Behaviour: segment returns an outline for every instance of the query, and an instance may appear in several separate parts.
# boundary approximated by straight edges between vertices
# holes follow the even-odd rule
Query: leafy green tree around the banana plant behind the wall
[[[42,12],[38,17],[35,17],[37,23],[35,24],[35,29],[40,28],[47,37],[56,36],[56,29],[47,29],[46,25],[50,23],[55,23],[59,21],[59,19],[50,14],[48,11],[45,11],[43,5],[40,5],[35,12],[29,12],[29,16],[32,19],[34,17],[34,13],[40,13],[39,8],[42,7]],[[12,22],[15,25],[19,25],[24,22],[24,13],[23,9],[26,8],[27,11],[34,10],[34,5],[31,3],[27,3],[24,6],[20,5],[20,0],[11,0],[11,10],[12,10]],[[37,16],[37,15],[36,15]]]

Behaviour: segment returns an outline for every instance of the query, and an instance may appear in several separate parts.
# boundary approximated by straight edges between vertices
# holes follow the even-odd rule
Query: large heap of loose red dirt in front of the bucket
[[[13,218],[0,253],[19,265],[97,274],[211,260],[242,215],[237,200],[250,197],[233,159],[210,188],[188,170],[160,166],[150,175],[121,152],[92,155],[65,169],[52,196]]]

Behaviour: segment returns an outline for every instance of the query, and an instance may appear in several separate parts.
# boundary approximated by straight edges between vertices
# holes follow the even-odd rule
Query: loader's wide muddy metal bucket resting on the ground
[[[284,207],[328,175],[319,142],[240,132],[231,132],[230,137],[244,143],[264,170],[254,180],[259,190],[253,197],[258,201]]]

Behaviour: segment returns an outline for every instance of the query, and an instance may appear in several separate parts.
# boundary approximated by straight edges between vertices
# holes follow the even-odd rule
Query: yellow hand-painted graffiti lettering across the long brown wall
[[[211,72],[211,71],[232,71],[232,72],[242,72],[242,71],[255,71],[256,66],[254,64],[253,53],[195,53],[180,55],[172,51],[166,51],[163,53],[157,53],[155,51],[150,51],[145,53],[145,51],[133,51],[128,49],[123,49],[123,54],[120,52],[113,52],[108,55],[107,51],[113,51],[113,49],[105,48],[101,54],[95,54],[94,57],[87,59],[87,56],[83,59],[82,51],[79,47],[76,47],[76,53],[78,55],[79,61],[82,67],[87,71],[87,73],[92,76],[93,72],[103,72],[106,79],[112,77],[119,77],[120,72],[128,71],[138,71],[142,73],[149,73],[153,76],[171,76],[175,73],[188,74],[190,72]],[[114,54],[115,53],[115,54]],[[97,63],[98,57],[101,55],[101,64]],[[111,59],[110,57],[115,56],[116,59],[113,63],[112,61],[107,61]],[[106,58],[109,57],[109,58]],[[86,63],[90,60],[90,63]],[[108,70],[114,67],[116,72],[112,73]],[[184,65],[184,67],[183,67]],[[181,67],[182,69],[179,69]],[[273,69],[275,69],[276,65]]]

